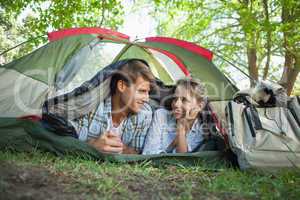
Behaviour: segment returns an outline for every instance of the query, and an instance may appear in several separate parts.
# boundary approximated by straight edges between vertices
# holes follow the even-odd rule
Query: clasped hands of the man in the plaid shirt
[[[88,143],[104,153],[122,153],[123,151],[121,138],[111,131],[103,133],[97,139],[89,140]]]

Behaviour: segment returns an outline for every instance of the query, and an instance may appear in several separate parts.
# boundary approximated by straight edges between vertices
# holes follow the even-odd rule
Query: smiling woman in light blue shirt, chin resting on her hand
[[[195,79],[177,82],[171,111],[159,108],[154,113],[143,154],[184,153],[198,148],[203,130],[199,113],[205,107],[205,88]]]

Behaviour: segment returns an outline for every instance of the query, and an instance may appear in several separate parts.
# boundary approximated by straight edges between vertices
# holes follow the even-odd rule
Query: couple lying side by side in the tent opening
[[[149,93],[157,84],[148,64],[138,59],[118,64],[109,95],[92,111],[69,120],[78,139],[105,153],[199,151],[214,130],[208,126],[203,84],[192,78],[178,80],[164,97],[168,103],[154,110]]]

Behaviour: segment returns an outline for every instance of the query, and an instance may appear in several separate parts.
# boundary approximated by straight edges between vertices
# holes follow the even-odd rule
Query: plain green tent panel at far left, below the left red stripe
[[[14,69],[35,80],[53,85],[55,75],[82,47],[95,39],[93,35],[67,37],[63,41],[50,42],[34,52],[1,67]]]

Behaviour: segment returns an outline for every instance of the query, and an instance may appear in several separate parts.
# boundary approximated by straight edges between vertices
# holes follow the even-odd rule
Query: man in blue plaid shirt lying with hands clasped
[[[79,139],[101,152],[141,153],[152,121],[147,102],[153,80],[146,63],[129,60],[112,75],[110,96],[79,120]]]

